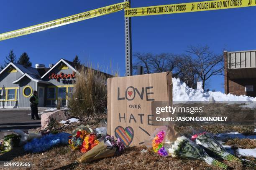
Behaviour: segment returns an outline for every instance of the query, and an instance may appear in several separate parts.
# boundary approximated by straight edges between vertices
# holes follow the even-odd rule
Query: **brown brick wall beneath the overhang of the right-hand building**
[[[245,86],[253,85],[253,92],[246,92]],[[226,88],[226,84],[225,84]],[[251,97],[256,97],[256,79],[234,79],[228,80],[227,90],[233,95],[247,95]]]

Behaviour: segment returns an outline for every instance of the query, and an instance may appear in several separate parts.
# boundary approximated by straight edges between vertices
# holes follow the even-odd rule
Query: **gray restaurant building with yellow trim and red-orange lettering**
[[[38,92],[39,107],[56,107],[58,98],[62,106],[67,105],[79,65],[61,59],[50,66],[36,64],[33,68],[8,64],[0,71],[0,108],[30,107],[33,90]]]

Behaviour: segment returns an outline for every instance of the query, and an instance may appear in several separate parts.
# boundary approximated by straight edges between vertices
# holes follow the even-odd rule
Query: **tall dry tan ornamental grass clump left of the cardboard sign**
[[[102,113],[107,110],[107,78],[108,75],[94,70],[92,66],[79,69],[74,84],[74,92],[69,97],[68,107],[71,114],[85,116]]]

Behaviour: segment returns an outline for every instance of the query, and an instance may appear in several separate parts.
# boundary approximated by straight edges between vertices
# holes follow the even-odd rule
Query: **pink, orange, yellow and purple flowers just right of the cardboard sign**
[[[157,133],[156,137],[152,140],[152,148],[155,153],[158,153],[161,156],[168,156],[169,154],[162,143],[164,140],[164,135],[165,133],[163,130]]]

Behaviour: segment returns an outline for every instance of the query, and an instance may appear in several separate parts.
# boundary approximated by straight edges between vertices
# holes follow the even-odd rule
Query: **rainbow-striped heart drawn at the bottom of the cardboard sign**
[[[120,138],[122,143],[128,147],[133,141],[133,128],[130,126],[123,128],[122,126],[118,126],[115,128],[115,137]]]

